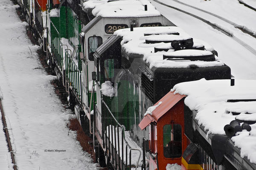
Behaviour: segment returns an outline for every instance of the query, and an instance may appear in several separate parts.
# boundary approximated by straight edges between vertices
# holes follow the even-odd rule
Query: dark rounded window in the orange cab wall
[[[180,124],[166,124],[163,127],[163,156],[180,158],[182,155],[182,131]]]

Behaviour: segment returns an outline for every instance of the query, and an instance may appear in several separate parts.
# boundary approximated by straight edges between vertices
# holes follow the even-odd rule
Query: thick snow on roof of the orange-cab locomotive
[[[224,126],[236,119],[255,121],[256,101],[227,102],[230,99],[256,99],[256,80],[236,80],[230,86],[230,80],[190,81],[176,84],[171,91],[187,95],[185,104],[197,111],[195,119],[209,133],[225,135]],[[240,113],[239,115],[232,113]],[[241,157],[247,156],[256,163],[256,124],[252,130],[237,132],[231,140],[241,148]]]

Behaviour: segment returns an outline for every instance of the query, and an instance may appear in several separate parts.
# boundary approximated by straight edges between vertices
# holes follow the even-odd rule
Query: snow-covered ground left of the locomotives
[[[76,133],[66,127],[70,111],[55,95],[50,81],[56,77],[47,75],[39,63],[38,46],[26,36],[27,23],[18,18],[17,7],[10,0],[0,1],[0,88],[17,167],[95,170],[97,164],[82,151]],[[0,169],[10,170],[2,133],[0,138]]]

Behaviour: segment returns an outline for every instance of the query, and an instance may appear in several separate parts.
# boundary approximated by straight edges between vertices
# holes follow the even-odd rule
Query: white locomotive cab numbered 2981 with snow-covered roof
[[[90,5],[91,3],[95,3],[95,5],[92,7]],[[83,82],[86,83],[81,85],[81,98],[82,103],[84,103],[83,109],[85,110],[87,117],[90,115],[90,112],[87,112],[87,109],[90,106],[90,96],[93,94],[93,92],[88,89],[90,89],[89,86],[93,84],[91,74],[93,71],[96,71],[93,58],[93,54],[97,52],[96,49],[102,50],[102,47],[108,49],[109,45],[106,47],[104,44],[102,45],[102,43],[107,41],[118,29],[130,27],[175,26],[175,24],[157,12],[154,6],[152,6],[150,3],[144,3],[144,1],[133,0],[123,2],[109,1],[102,3],[87,1],[83,3],[82,11],[85,12],[86,15],[81,15],[83,28],[81,29],[82,33],[80,34],[80,38],[82,52],[84,55],[84,60],[81,62],[81,70],[84,71],[81,72],[81,78],[83,79]],[[113,8],[113,6],[115,7]],[[144,9],[145,6],[147,6],[147,9]],[[117,7],[120,10],[116,11]],[[141,14],[137,12],[129,14],[126,13],[133,8],[140,8]],[[116,15],[119,15],[119,17],[116,17]],[[90,17],[90,21],[85,25],[83,18],[88,16]],[[111,81],[110,79],[114,79],[116,77],[116,74],[112,71],[112,69],[119,69],[119,44],[116,45],[115,52],[111,52],[111,54],[108,54],[109,56],[104,54],[104,60],[106,61],[104,61],[101,56],[101,62],[103,62],[103,65],[100,67],[103,68],[106,66],[107,72],[106,73],[105,70],[103,70],[104,76],[102,75],[102,77],[105,77],[105,79],[108,79],[108,81]],[[113,46],[113,44],[111,44],[111,46]],[[100,63],[100,65],[101,64],[102,63]],[[109,66],[109,68],[107,68],[107,66]],[[93,95],[96,95],[96,93]],[[101,112],[101,110],[99,112]]]

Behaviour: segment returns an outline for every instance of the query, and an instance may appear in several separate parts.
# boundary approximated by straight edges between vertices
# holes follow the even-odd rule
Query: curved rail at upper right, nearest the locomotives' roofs
[[[218,31],[224,33],[225,35],[231,37],[233,40],[235,40],[235,41],[236,41],[237,43],[239,43],[241,46],[243,46],[243,47],[246,48],[248,51],[250,51],[253,55],[256,55],[256,50],[255,50],[253,47],[251,47],[251,46],[248,45],[247,43],[243,42],[243,41],[240,40],[239,38],[235,37],[235,36],[233,35],[233,33],[232,33],[232,32],[229,32],[227,29],[224,29],[224,28],[222,28],[221,26],[218,26],[218,25],[215,24],[215,23],[211,23],[210,21],[205,20],[205,19],[202,18],[202,17],[198,17],[198,16],[195,15],[195,14],[192,14],[192,13],[190,13],[190,12],[186,12],[186,11],[184,11],[184,10],[182,10],[182,9],[176,8],[175,6],[170,6],[170,5],[166,4],[166,3],[160,2],[159,0],[153,0],[153,1],[156,2],[156,3],[159,3],[159,4],[163,5],[163,6],[167,6],[167,7],[169,7],[169,8],[175,9],[175,10],[177,10],[177,11],[179,11],[179,12],[183,12],[183,13],[185,13],[185,14],[188,14],[188,15],[190,15],[190,16],[192,16],[192,17],[195,17],[195,18],[198,19],[198,20],[203,21],[204,23],[208,24],[209,26],[212,26],[212,28],[217,29]]]

